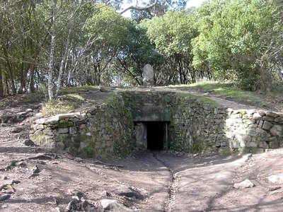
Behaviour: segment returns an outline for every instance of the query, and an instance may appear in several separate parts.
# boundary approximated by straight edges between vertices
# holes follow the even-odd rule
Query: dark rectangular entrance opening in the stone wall
[[[168,147],[168,123],[146,122],[147,149],[151,151],[164,150]]]

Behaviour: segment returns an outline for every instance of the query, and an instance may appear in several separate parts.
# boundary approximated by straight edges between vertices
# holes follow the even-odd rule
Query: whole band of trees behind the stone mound
[[[147,1],[146,1],[147,2]],[[67,86],[138,86],[233,81],[272,90],[283,81],[283,1],[0,1],[0,96]],[[147,7],[146,7],[147,5]],[[152,5],[152,6],[151,6]]]

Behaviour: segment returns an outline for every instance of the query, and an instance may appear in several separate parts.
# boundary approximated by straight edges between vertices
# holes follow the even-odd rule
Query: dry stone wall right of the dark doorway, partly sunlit
[[[255,151],[283,147],[283,113],[211,107],[177,98],[171,148],[178,151]]]

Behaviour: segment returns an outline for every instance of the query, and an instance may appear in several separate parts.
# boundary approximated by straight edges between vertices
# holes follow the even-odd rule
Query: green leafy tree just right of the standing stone
[[[191,40],[197,36],[196,20],[194,11],[168,11],[161,17],[141,22],[149,40],[170,66],[170,71],[164,72],[180,83],[195,82]]]

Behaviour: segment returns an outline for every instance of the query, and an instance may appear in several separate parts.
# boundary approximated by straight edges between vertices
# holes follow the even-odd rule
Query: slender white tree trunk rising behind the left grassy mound
[[[54,66],[54,47],[55,47],[55,27],[56,27],[56,5],[57,0],[52,1],[52,29],[50,45],[50,62],[48,65],[48,95],[50,100],[54,98],[53,93],[53,66]]]

